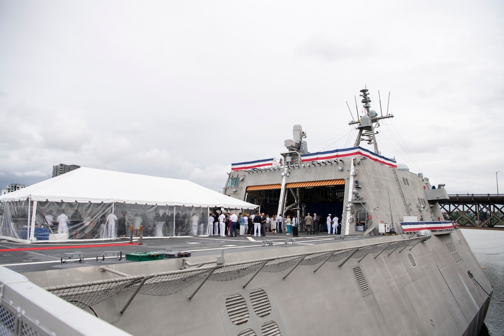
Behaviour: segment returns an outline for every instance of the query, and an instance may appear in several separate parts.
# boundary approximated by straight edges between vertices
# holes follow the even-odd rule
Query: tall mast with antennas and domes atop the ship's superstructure
[[[359,124],[357,126],[357,129],[359,130],[359,134],[357,135],[357,139],[355,139],[354,147],[357,147],[360,145],[361,141],[366,141],[368,145],[373,145],[374,146],[374,153],[380,154],[380,151],[378,150],[378,144],[376,143],[376,137],[375,135],[378,133],[375,131],[376,128],[380,126],[380,123],[378,122],[380,119],[386,119],[386,118],[392,118],[394,115],[392,114],[387,114],[387,115],[381,115],[379,116],[375,110],[371,110],[371,105],[369,104],[371,102],[371,99],[369,98],[369,90],[367,89],[362,89],[360,90],[360,97],[362,97],[361,103],[364,104],[363,108],[363,114],[359,118],[358,121],[350,121],[348,124],[353,125],[353,124]],[[380,105],[381,109],[381,105]],[[388,107],[387,107],[388,111]]]

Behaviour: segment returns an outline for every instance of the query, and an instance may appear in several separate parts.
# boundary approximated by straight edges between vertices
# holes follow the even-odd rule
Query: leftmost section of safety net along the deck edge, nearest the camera
[[[73,303],[79,308],[87,308],[105,301],[127,286],[132,285],[132,283],[139,282],[143,278],[144,276],[132,276],[72,285],[46,287],[44,289],[70,303]]]

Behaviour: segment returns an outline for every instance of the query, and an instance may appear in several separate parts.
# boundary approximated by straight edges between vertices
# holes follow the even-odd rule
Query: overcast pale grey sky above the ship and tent
[[[66,163],[220,191],[296,123],[310,152],[351,147],[346,101],[355,117],[367,86],[378,113],[390,91],[382,155],[449,193],[495,193],[500,170],[502,193],[503,16],[501,0],[0,0],[0,188]]]

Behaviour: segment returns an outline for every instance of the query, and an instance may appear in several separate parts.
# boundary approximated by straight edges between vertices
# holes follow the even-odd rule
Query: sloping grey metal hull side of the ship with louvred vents
[[[337,246],[192,257],[183,269],[178,259],[29,275],[136,335],[462,335],[482,324],[489,300],[467,271],[491,286],[460,230]],[[81,283],[54,285],[71,279]]]

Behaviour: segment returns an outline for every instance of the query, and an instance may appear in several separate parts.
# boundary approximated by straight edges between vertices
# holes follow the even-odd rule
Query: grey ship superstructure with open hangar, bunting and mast
[[[349,122],[358,130],[354,147],[308,153],[306,132],[296,124],[280,160],[232,164],[223,192],[260,205],[261,212],[297,217],[301,231],[307,213],[337,216],[343,235],[376,235],[383,224],[399,233],[401,222],[444,221],[438,201],[448,199],[446,190],[432,188],[422,173],[380,155],[376,128],[393,115],[370,109],[367,89],[361,97],[363,113]],[[362,141],[374,152],[360,147]]]

